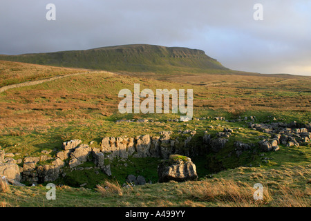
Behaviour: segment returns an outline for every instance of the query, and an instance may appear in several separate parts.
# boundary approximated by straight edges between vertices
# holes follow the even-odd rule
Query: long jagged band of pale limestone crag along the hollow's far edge
[[[218,119],[218,120],[224,120]],[[234,142],[231,154],[239,157],[243,151],[250,151],[254,154],[267,151],[278,151],[280,144],[285,146],[308,145],[311,140],[311,124],[254,124],[249,122],[252,130],[263,131],[270,134],[269,137],[262,137],[261,141],[255,144]],[[0,149],[0,175],[5,176],[12,184],[22,185],[53,182],[60,176],[66,176],[64,167],[71,171],[84,162],[92,161],[103,173],[111,175],[111,161],[116,158],[127,159],[131,157],[161,157],[168,159],[171,154],[180,154],[193,157],[205,153],[218,153],[227,148],[234,131],[231,128],[224,128],[216,136],[211,137],[208,131],[202,137],[196,137],[199,144],[191,144],[196,131],[179,131],[180,136],[172,137],[171,131],[160,132],[159,135],[140,135],[137,137],[104,137],[100,148],[91,148],[83,144],[81,140],[64,142],[62,149],[57,151],[55,157],[51,157],[51,151],[42,151],[40,157],[25,157],[14,160],[17,153],[5,153]]]

